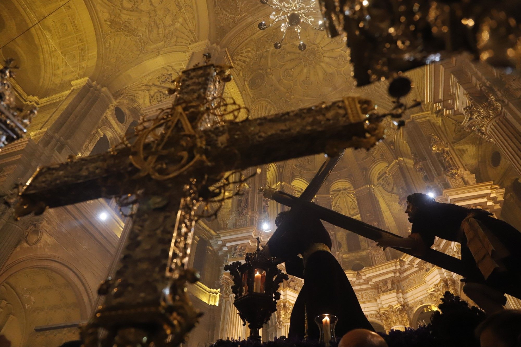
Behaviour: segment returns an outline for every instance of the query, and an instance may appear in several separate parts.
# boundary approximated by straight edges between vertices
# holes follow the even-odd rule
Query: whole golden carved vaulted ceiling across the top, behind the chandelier
[[[347,48],[340,39],[304,26],[305,51],[297,49],[293,32],[276,50],[273,43],[281,36],[277,26],[257,28],[270,13],[260,2],[75,0],[56,10],[65,3],[0,4],[0,45],[49,15],[1,50],[22,66],[17,77],[22,95],[45,98],[68,91],[73,80],[90,77],[134,106],[148,106],[165,99],[161,86],[205,45],[228,51],[235,81],[227,93],[242,99],[252,116],[361,92],[354,91]],[[373,89],[379,97],[386,95],[379,90],[383,85]]]

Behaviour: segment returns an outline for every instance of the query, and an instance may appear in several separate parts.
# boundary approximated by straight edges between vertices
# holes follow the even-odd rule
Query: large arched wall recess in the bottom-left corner
[[[48,267],[23,268],[3,281],[0,296],[15,318],[8,319],[2,327],[11,343],[19,342],[13,345],[60,345],[79,338],[77,328],[34,330],[86,319],[85,298],[66,275]]]

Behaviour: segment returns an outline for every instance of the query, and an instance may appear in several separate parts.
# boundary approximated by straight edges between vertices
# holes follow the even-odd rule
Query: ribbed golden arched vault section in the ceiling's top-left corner
[[[0,2],[0,46],[65,2]],[[89,5],[68,3],[0,50],[3,58],[13,57],[20,65],[16,81],[22,94],[44,98],[69,90],[71,81],[93,73],[98,46]]]

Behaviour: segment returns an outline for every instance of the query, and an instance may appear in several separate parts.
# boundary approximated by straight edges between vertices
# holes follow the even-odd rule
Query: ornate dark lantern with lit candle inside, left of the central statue
[[[233,305],[239,311],[243,325],[248,323],[250,340],[261,340],[259,329],[268,323],[271,314],[277,311],[280,299],[279,285],[288,280],[278,267],[275,258],[268,258],[259,249],[246,253],[245,262],[233,262],[225,266],[233,277],[232,293],[235,294]]]

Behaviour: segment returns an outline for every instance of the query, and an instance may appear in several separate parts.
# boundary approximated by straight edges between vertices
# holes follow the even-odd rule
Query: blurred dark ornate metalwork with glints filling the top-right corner
[[[516,1],[319,2],[329,36],[342,36],[350,48],[358,86],[394,79],[464,51],[507,72],[521,69],[521,11]],[[391,95],[410,88],[404,83],[391,87]]]

